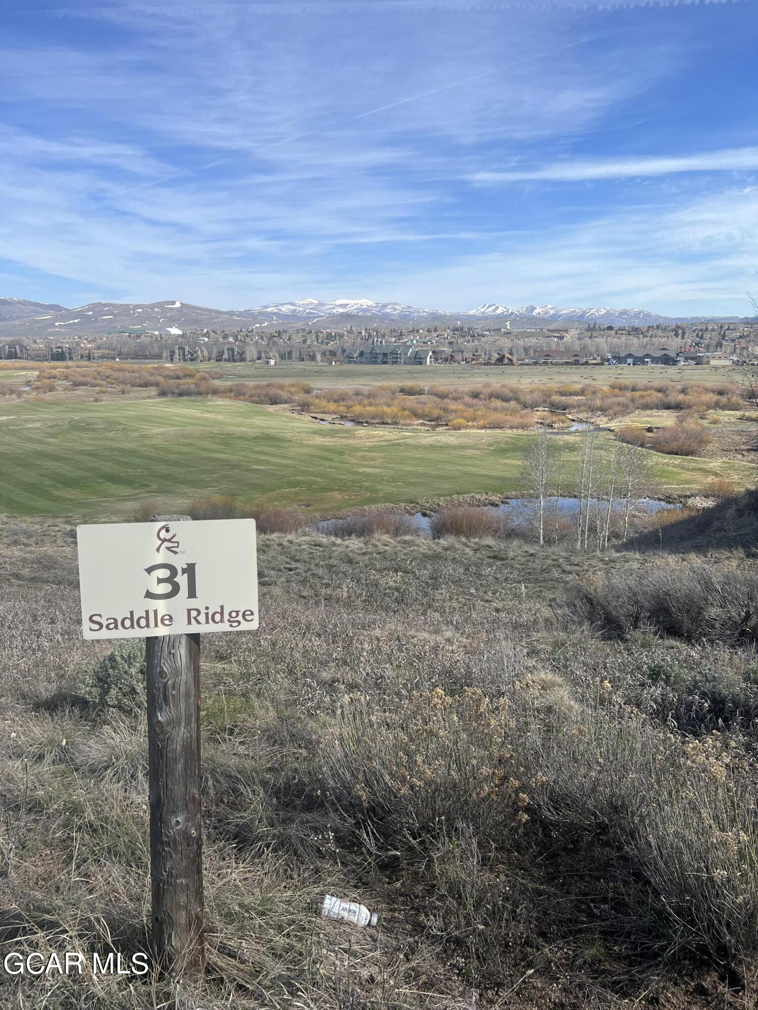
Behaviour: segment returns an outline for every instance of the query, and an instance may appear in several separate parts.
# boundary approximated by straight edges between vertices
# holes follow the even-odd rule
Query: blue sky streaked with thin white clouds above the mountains
[[[758,5],[3,0],[0,294],[747,314]]]

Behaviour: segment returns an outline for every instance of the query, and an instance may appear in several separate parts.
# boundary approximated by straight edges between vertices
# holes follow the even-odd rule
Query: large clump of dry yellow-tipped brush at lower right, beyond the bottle
[[[538,930],[570,928],[541,880],[548,858],[556,878],[578,875],[577,899],[603,904],[594,929],[608,938],[740,971],[758,946],[749,776],[718,742],[682,744],[620,710],[609,684],[583,710],[550,715],[538,703],[546,687],[527,678],[497,700],[436,688],[401,709],[347,704],[314,755],[313,794],[372,862],[418,872],[445,854],[458,882],[447,921],[468,930],[484,920],[489,957],[504,956],[525,888]]]

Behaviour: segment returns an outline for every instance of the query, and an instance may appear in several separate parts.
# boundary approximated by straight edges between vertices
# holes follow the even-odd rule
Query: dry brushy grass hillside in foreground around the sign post
[[[149,944],[140,643],[81,640],[67,525],[5,520],[2,544],[2,952],[128,955]],[[707,598],[698,571],[263,536],[260,631],[203,638],[202,992],[5,976],[0,1003],[754,1006],[757,588],[734,553]],[[322,921],[326,893],[378,928]]]

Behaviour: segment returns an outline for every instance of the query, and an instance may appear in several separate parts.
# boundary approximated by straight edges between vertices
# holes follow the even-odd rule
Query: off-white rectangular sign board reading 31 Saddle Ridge
[[[85,638],[258,627],[255,519],[78,526]]]

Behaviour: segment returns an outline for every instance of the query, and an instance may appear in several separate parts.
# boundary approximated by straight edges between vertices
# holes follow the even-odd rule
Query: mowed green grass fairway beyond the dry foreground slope
[[[7,401],[0,406],[0,512],[118,518],[140,499],[241,501],[329,513],[474,492],[518,494],[530,432],[319,425],[227,400]],[[569,436],[570,460],[579,438]],[[753,486],[744,463],[656,457],[663,490],[709,477]]]

